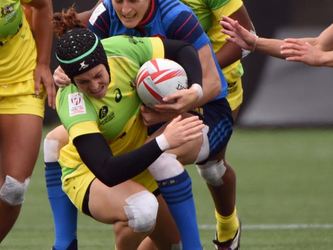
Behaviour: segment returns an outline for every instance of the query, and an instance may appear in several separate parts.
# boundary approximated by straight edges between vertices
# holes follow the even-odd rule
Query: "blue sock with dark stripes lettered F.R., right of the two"
[[[191,178],[184,170],[175,177],[157,181],[159,190],[176,221],[183,250],[202,250]]]

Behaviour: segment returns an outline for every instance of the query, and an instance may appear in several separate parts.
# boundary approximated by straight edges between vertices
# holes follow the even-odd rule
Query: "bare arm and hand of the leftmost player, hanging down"
[[[55,87],[49,68],[53,37],[51,1],[32,0],[27,4],[34,8],[32,23],[37,47],[37,65],[34,71],[35,91],[38,94],[40,84],[44,84],[48,95],[48,104],[55,108]]]

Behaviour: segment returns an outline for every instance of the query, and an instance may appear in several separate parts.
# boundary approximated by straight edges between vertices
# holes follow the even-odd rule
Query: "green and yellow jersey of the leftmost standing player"
[[[37,50],[21,2],[0,1],[0,85],[33,79]]]

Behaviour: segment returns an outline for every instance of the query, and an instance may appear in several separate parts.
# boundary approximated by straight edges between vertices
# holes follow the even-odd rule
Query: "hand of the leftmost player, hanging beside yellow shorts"
[[[40,84],[43,84],[48,96],[48,105],[55,109],[55,87],[53,77],[49,66],[37,64],[34,71],[35,79],[35,94],[38,95],[40,91]]]

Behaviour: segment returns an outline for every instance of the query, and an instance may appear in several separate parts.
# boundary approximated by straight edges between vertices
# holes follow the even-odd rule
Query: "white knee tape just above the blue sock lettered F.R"
[[[148,168],[155,180],[164,180],[180,175],[184,168],[175,154],[162,153]]]

